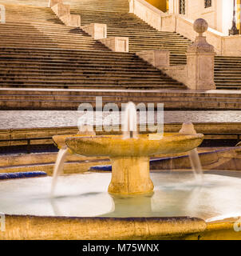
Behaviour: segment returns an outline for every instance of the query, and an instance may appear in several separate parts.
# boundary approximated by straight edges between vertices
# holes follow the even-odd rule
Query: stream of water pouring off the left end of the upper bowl
[[[51,184],[50,196],[52,198],[53,198],[54,190],[55,190],[55,187],[56,187],[56,184],[57,184],[57,177],[64,170],[65,158],[66,158],[67,154],[68,154],[68,149],[67,148],[60,149],[57,153],[57,160],[56,160],[55,165],[54,165],[53,179],[52,179],[52,184]]]

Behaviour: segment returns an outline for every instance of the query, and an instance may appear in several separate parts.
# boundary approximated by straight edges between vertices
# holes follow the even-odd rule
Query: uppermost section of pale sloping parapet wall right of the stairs
[[[161,15],[164,13],[148,2],[144,0],[129,0],[129,12],[136,14],[156,30],[161,30]]]

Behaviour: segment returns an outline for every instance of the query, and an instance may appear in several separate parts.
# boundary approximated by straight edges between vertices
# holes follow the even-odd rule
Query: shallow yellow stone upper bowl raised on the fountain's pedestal
[[[146,157],[160,153],[187,152],[200,146],[203,134],[140,134],[138,138],[123,139],[122,135],[54,136],[59,148],[65,144],[73,154],[109,157]]]

